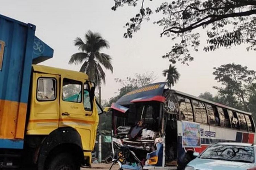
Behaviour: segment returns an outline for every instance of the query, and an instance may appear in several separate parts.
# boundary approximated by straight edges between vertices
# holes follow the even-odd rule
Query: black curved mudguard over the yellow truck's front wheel
[[[84,159],[81,137],[75,129],[71,127],[64,127],[52,131],[42,141],[40,152],[38,154],[38,170],[44,170],[46,159],[48,156],[53,156],[55,154],[53,152],[56,148],[65,152],[65,150],[68,151],[72,149],[72,147],[70,148],[69,146],[75,146],[76,148],[79,148],[80,153],[77,156],[79,156],[80,159]]]

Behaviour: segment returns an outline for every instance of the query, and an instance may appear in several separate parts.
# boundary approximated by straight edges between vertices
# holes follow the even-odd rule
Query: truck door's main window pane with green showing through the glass
[[[82,82],[71,80],[68,78],[63,79],[62,87],[62,100],[81,103],[82,101]]]

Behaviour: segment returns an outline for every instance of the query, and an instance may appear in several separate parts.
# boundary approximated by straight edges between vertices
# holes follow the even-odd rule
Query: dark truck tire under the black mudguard
[[[80,170],[80,165],[68,153],[56,155],[48,165],[47,170]]]

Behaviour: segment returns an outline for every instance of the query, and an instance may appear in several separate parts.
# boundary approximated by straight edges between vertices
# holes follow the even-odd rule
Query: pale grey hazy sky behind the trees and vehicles
[[[145,1],[145,5],[154,9],[161,2]],[[170,38],[160,37],[163,28],[153,24],[163,17],[161,14],[144,22],[132,39],[123,38],[123,26],[137,14],[138,8],[124,6],[112,11],[113,5],[114,0],[1,0],[0,14],[36,25],[36,36],[54,49],[53,58],[40,64],[52,67],[79,71],[80,65],[68,64],[70,56],[79,52],[74,46],[74,39],[84,39],[88,30],[99,32],[110,43],[110,48],[102,52],[112,56],[114,68],[113,74],[105,71],[106,84],[102,85],[102,99],[109,99],[121,88],[114,78],[125,79],[136,73],[153,71],[157,77],[155,82],[164,81],[162,71],[169,67],[170,62],[162,55],[169,52],[174,44]],[[216,95],[212,86],[220,84],[214,80],[213,67],[234,62],[256,70],[255,51],[247,52],[245,46],[236,46],[204,52],[205,31],[200,28],[195,31],[201,33],[201,48],[199,52],[191,53],[194,61],[189,66],[176,64],[181,76],[174,89],[196,96],[206,91]]]

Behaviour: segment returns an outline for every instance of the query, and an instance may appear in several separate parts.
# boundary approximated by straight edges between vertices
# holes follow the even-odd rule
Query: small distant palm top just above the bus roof
[[[166,77],[167,75],[167,77]],[[177,69],[175,68],[175,66],[172,66],[170,64],[169,69],[166,69],[163,71],[163,76],[166,77],[167,80],[167,86],[172,88],[172,86],[174,86],[174,84],[177,83],[177,81],[179,80],[179,72],[177,71]]]

